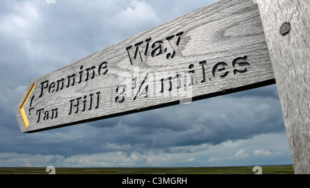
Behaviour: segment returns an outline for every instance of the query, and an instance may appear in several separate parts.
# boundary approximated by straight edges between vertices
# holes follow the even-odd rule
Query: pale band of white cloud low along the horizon
[[[97,154],[75,154],[63,156],[59,154],[18,154],[16,152],[0,153],[0,167],[156,167],[156,166],[229,166],[229,165],[287,165],[290,163],[289,149],[282,148],[285,136],[278,134],[256,136],[248,140],[238,140],[231,145],[231,141],[220,145],[200,145],[205,149],[194,149],[192,152],[184,152],[181,147],[174,150],[174,153],[164,149],[145,149],[143,153],[117,151],[125,145],[108,143],[107,147],[115,152],[102,152]],[[266,149],[260,149],[260,139],[278,138],[279,144]],[[282,143],[281,143],[281,142]],[[114,148],[115,147],[115,148]],[[273,148],[274,147],[274,148]],[[186,148],[188,149],[188,148]],[[186,150],[185,149],[185,150]],[[271,150],[273,149],[273,150]],[[279,150],[277,150],[279,149]],[[285,150],[283,150],[285,149]],[[236,152],[238,151],[238,152]],[[249,151],[249,152],[247,152]],[[254,151],[254,152],[250,152]],[[272,153],[270,151],[273,151]],[[272,155],[276,154],[276,155]],[[265,157],[261,157],[265,156]]]

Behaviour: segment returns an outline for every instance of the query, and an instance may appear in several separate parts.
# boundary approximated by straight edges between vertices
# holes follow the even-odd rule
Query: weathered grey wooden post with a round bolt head
[[[310,174],[310,1],[257,0],[295,174]]]

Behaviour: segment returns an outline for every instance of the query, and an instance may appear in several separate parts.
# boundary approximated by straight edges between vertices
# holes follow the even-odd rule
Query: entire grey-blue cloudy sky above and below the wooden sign
[[[0,2],[0,167],[291,164],[276,85],[23,134],[29,81],[216,0]]]

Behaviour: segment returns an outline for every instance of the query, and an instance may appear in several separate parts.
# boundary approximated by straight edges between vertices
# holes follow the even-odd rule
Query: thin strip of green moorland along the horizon
[[[261,166],[262,174],[294,174],[293,166]],[[48,174],[46,167],[0,167],[0,174]],[[253,167],[63,168],[56,174],[255,174]]]

